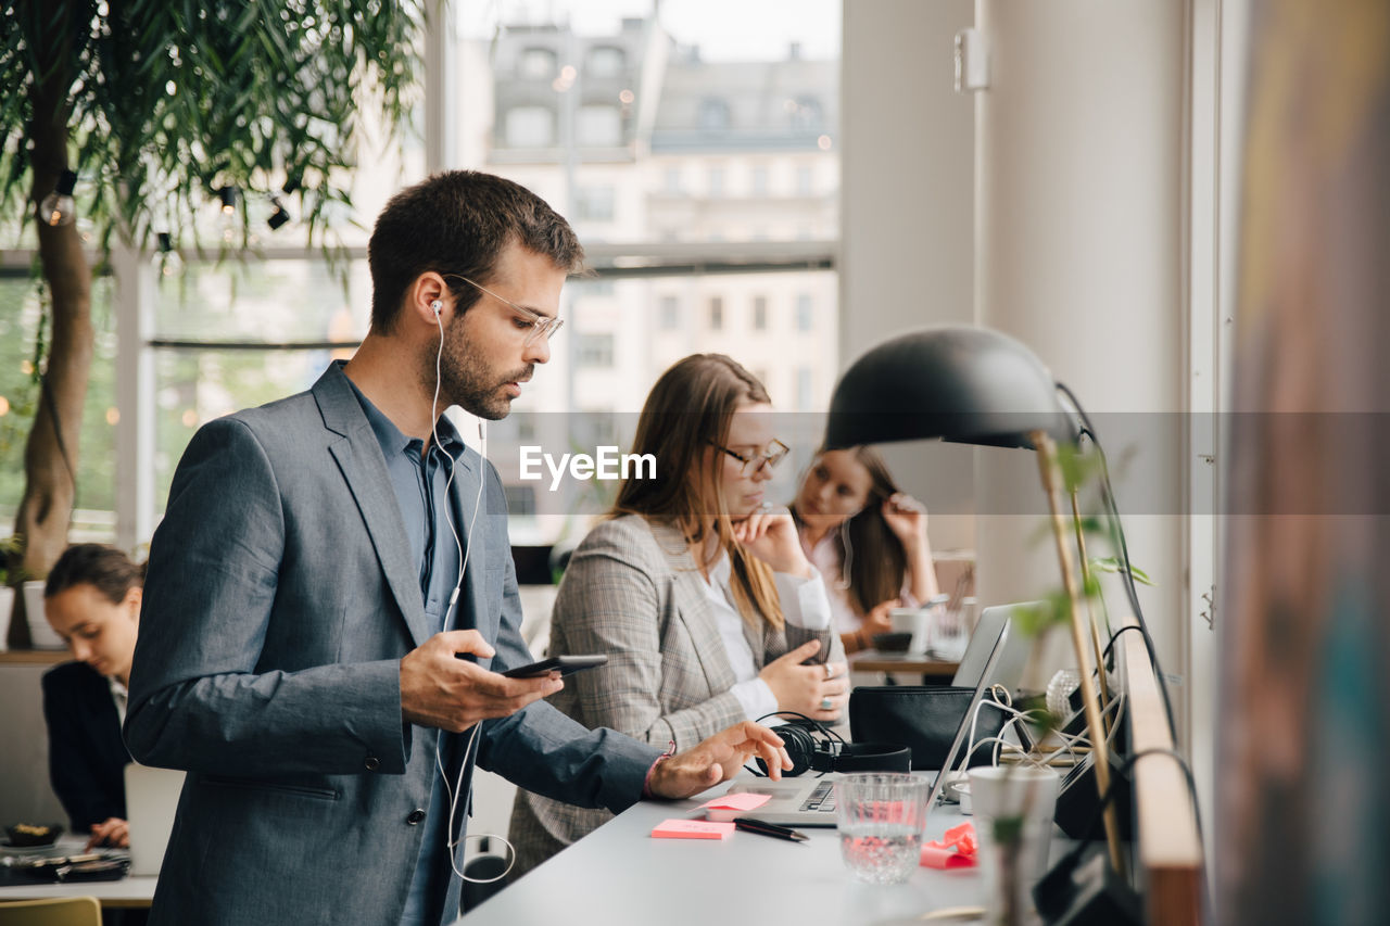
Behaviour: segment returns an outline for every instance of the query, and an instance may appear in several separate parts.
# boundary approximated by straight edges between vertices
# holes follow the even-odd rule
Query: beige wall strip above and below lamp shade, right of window
[[[851,0],[841,74],[841,370],[880,341],[974,320],[974,103],[955,93],[972,0]],[[974,546],[973,450],[884,448],[933,546]]]

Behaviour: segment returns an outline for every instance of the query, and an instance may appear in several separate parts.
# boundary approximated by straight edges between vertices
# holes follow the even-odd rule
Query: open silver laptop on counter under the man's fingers
[[[1023,669],[1023,660],[1019,660],[1017,656],[1022,652],[1023,658],[1027,658],[1027,638],[1023,634],[1011,633],[1012,622],[1009,617],[1016,606],[987,608],[980,615],[980,623],[976,626],[974,634],[970,635],[970,644],[965,655],[960,656],[960,667],[956,670],[955,684],[959,685],[965,677],[974,677],[974,697],[970,698],[970,706],[966,709],[965,719],[956,729],[951,751],[947,752],[947,767],[955,765],[956,756],[965,748],[966,740],[970,736],[970,717],[974,716],[974,710],[984,698],[986,691],[995,684],[1017,683],[1017,674]],[[1012,667],[1012,663],[1016,663],[1016,669]],[[1005,676],[1006,670],[1012,672],[1013,677]],[[728,788],[728,793],[771,795],[767,804],[744,815],[755,820],[780,823],[783,826],[831,827],[837,822],[834,790],[837,777],[840,776],[830,773],[815,779],[735,781]],[[937,798],[941,795],[945,780],[947,776],[937,776],[927,806],[937,805]]]

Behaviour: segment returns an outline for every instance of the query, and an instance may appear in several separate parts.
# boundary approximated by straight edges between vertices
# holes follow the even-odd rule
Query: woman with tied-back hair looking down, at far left
[[[143,567],[121,551],[76,544],[43,588],[44,616],[75,659],[43,676],[49,779],[72,831],[92,834],[88,848],[129,845],[121,724],[143,584]]]

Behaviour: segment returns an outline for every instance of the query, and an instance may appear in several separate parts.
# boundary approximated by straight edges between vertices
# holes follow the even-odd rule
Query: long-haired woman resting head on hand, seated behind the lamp
[[[892,630],[894,608],[938,594],[927,509],[902,494],[877,450],[816,455],[792,502],[801,546],[830,587],[845,652]]]

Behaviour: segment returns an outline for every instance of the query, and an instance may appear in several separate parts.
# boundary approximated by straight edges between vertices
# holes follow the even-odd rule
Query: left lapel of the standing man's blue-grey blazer
[[[328,452],[334,455],[352,491],[361,520],[367,524],[371,545],[377,551],[377,562],[381,563],[381,571],[386,577],[396,606],[406,619],[410,637],[418,647],[430,638],[431,627],[420,601],[416,567],[410,562],[406,524],[400,519],[400,506],[391,488],[391,476],[386,473],[386,462],[381,457],[377,435],[367,424],[367,416],[338,364],[331,366],[318,378],[313,392],[324,416],[324,424],[341,435],[328,445]]]

